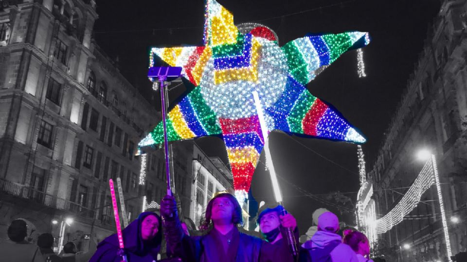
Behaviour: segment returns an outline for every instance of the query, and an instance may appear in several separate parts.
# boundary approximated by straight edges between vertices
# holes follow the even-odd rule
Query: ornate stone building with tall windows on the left
[[[84,234],[115,231],[108,179],[121,178],[130,221],[165,188],[139,183],[135,150],[158,112],[91,39],[97,18],[94,0],[1,1],[2,239],[16,218],[58,237],[51,222],[72,217],[64,243],[86,250]]]

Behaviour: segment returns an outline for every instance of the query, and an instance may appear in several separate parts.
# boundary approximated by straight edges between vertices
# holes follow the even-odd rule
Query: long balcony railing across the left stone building
[[[12,181],[0,179],[0,193],[16,197],[29,199],[35,203],[42,204],[51,208],[68,211],[82,217],[94,219],[95,210],[91,210],[72,201],[46,194],[36,188],[14,183]],[[105,224],[111,224],[112,220],[102,221]]]

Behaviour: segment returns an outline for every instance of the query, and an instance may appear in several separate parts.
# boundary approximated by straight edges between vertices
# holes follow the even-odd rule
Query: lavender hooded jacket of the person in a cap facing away
[[[330,253],[332,262],[358,262],[357,255],[348,245],[342,243],[342,238],[336,233],[328,231],[317,231],[311,240],[302,245],[308,252],[308,259],[301,258],[300,261],[322,262],[324,260],[313,260],[315,254]],[[311,259],[310,259],[311,257]]]

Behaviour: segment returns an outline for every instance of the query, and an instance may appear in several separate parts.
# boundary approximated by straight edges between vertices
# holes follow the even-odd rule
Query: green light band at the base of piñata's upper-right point
[[[287,66],[290,75],[302,84],[307,84],[308,79],[308,68],[305,60],[302,57],[302,53],[295,46],[294,41],[288,42],[282,47],[287,58]]]

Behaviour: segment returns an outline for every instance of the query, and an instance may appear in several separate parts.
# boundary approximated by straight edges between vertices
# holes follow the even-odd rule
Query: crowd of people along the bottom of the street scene
[[[288,238],[295,238],[299,245],[297,222],[281,206],[265,205],[258,211],[262,238],[240,227],[242,209],[228,193],[209,201],[199,226],[201,236],[190,236],[180,222],[174,197],[162,199],[160,213],[141,213],[123,229],[124,250],[119,247],[117,234],[113,234],[97,246],[91,241],[85,253],[77,252],[73,242],[65,244],[60,254],[54,253],[50,233],[41,234],[37,245],[32,244],[25,240],[26,222],[17,219],[8,228],[9,238],[0,242],[0,262],[121,262],[123,255],[128,262],[373,262],[367,237],[357,230],[346,230],[342,237],[338,234],[337,215],[325,210],[316,217],[316,231],[297,246],[295,254]],[[164,238],[168,258],[160,260]]]

